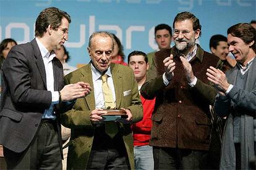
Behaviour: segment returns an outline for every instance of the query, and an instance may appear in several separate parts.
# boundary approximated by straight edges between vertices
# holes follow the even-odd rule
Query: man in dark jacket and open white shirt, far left
[[[68,39],[69,14],[41,11],[31,42],[13,48],[2,74],[0,143],[7,169],[62,169],[59,113],[90,91],[87,83],[64,86],[54,49]]]

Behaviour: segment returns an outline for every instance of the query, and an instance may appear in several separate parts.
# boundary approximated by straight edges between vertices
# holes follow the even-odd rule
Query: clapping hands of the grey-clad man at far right
[[[218,91],[220,91],[221,95],[228,90],[229,83],[226,78],[226,75],[223,71],[216,69],[214,67],[210,67],[207,69],[206,75],[208,76],[207,79],[215,84],[215,87]]]

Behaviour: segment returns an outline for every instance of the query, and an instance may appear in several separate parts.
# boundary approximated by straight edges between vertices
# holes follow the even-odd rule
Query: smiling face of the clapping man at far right
[[[253,42],[252,44],[246,44],[241,38],[228,34],[228,44],[228,50],[234,55],[237,62],[241,63],[242,65],[249,62],[250,59],[248,58],[248,54],[250,51],[252,51],[250,46],[254,44]]]

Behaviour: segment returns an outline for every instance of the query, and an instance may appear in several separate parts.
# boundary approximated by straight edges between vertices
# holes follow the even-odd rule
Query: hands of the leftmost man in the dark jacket
[[[90,93],[92,87],[90,84],[84,83],[82,81],[75,84],[68,84],[63,87],[61,92],[61,101],[67,102],[77,98],[85,97]]]

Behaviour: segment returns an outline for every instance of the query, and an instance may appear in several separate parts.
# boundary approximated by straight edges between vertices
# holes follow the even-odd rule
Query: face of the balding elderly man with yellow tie
[[[103,73],[108,70],[113,54],[113,40],[110,36],[97,34],[87,48],[94,67]]]

